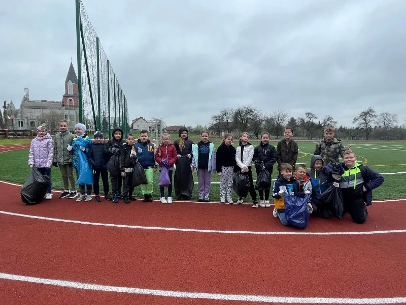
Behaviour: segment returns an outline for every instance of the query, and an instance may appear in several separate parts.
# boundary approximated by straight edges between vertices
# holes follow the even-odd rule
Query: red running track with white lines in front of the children
[[[146,289],[138,293],[128,289],[127,293],[106,292],[50,285],[53,282],[46,280],[38,284],[3,278],[0,297],[5,304],[258,303],[202,299],[196,298],[197,294],[185,295],[186,292],[211,293],[211,297],[222,294],[226,299],[229,295],[259,295],[259,301],[279,303],[284,303],[284,299],[265,297],[303,297],[311,303],[345,303],[346,298],[385,298],[387,303],[406,300],[404,201],[374,203],[364,225],[352,223],[348,216],[342,221],[315,218],[306,230],[299,231],[283,227],[269,208],[140,201],[113,205],[105,200],[95,203],[57,198],[24,206],[19,189],[0,182],[2,198],[7,198],[0,202],[1,211],[91,223],[184,229],[403,231],[357,235],[230,234],[96,226],[2,212],[2,275]],[[166,291],[164,295],[167,291],[180,295],[156,295],[162,291]],[[326,299],[319,302],[312,297]]]

